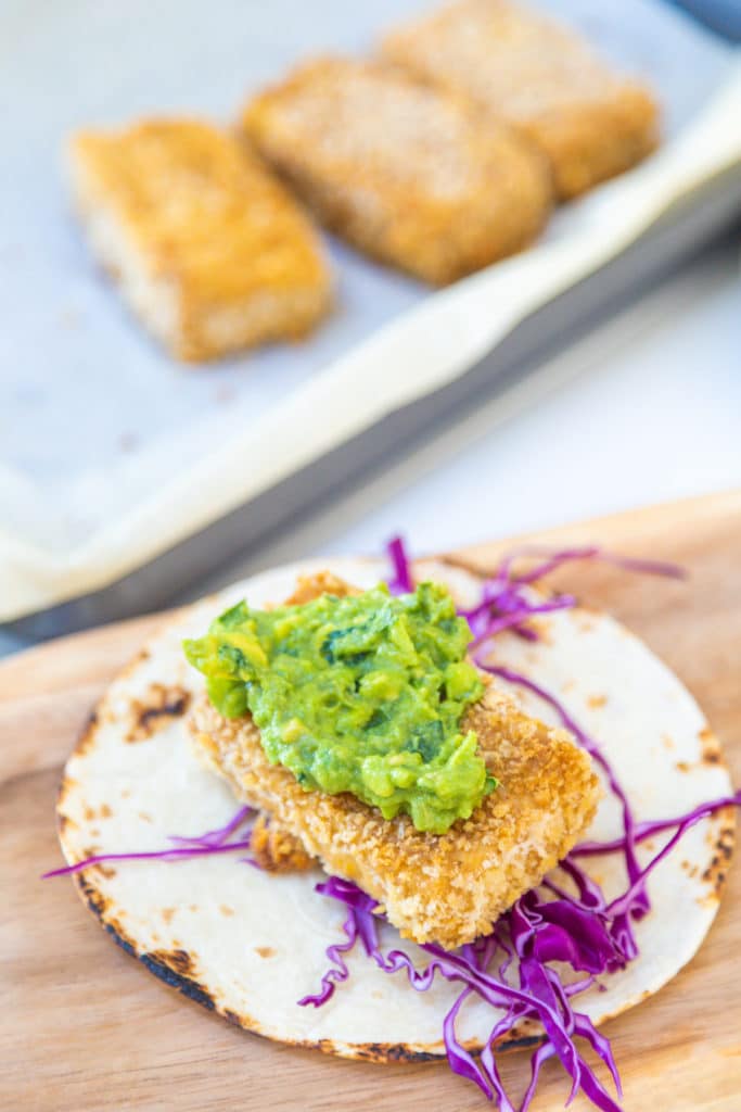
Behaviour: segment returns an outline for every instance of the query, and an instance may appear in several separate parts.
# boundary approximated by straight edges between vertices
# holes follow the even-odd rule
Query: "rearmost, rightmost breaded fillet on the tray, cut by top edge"
[[[521,129],[550,159],[562,199],[657,146],[645,86],[611,72],[578,33],[507,0],[457,0],[389,34],[382,52]]]

